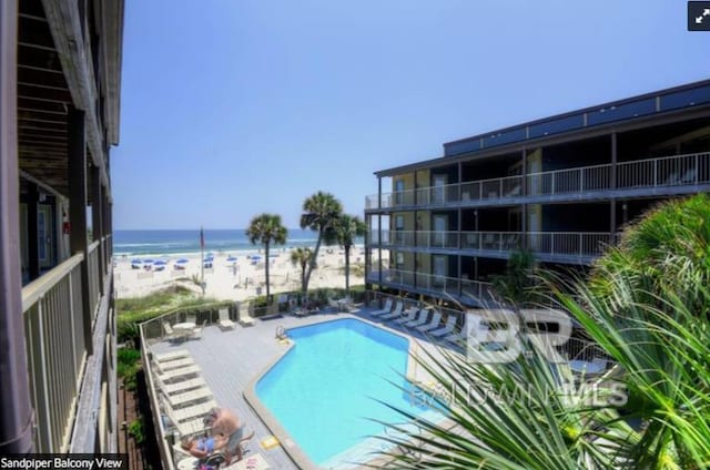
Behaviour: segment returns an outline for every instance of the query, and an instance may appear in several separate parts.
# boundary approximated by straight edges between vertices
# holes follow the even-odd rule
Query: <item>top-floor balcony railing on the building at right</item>
[[[365,208],[397,206],[430,206],[469,201],[498,201],[516,197],[576,195],[596,191],[635,190],[710,184],[710,152],[672,155],[658,159],[620,162],[613,177],[612,164],[581,166],[433,186],[397,193],[367,196]],[[381,205],[377,205],[377,201]]]

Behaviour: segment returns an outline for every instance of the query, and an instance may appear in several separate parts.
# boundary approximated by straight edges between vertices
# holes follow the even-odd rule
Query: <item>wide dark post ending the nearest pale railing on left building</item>
[[[71,255],[84,255],[81,263],[81,304],[84,324],[84,347],[87,354],[93,354],[92,311],[89,299],[89,259],[87,239],[87,134],[84,112],[69,110],[69,246]]]

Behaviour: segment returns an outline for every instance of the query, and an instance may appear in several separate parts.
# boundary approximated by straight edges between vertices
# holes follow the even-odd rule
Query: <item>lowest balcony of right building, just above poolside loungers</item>
[[[481,280],[403,269],[371,270],[366,280],[389,288],[449,298],[468,306],[484,306],[494,300],[493,285]]]

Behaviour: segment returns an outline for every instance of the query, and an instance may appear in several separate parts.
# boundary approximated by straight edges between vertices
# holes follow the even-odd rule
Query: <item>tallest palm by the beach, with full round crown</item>
[[[318,191],[303,202],[301,228],[310,228],[314,232],[317,232],[318,234],[318,238],[311,255],[311,263],[308,263],[304,279],[306,296],[308,293],[308,282],[311,280],[311,275],[313,274],[313,269],[315,269],[316,267],[316,260],[318,258],[321,244],[326,239],[332,239],[334,224],[337,222],[341,215],[343,215],[343,205],[331,193]]]

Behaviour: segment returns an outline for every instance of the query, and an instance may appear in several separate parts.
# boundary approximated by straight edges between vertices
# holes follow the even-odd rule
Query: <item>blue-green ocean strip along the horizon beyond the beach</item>
[[[262,245],[252,245],[244,229],[205,229],[204,251],[215,254],[256,253]],[[272,249],[315,246],[316,233],[288,228],[285,245]],[[364,244],[362,238],[356,245]],[[200,229],[191,231],[113,231],[113,253],[116,256],[168,256],[200,253]]]

